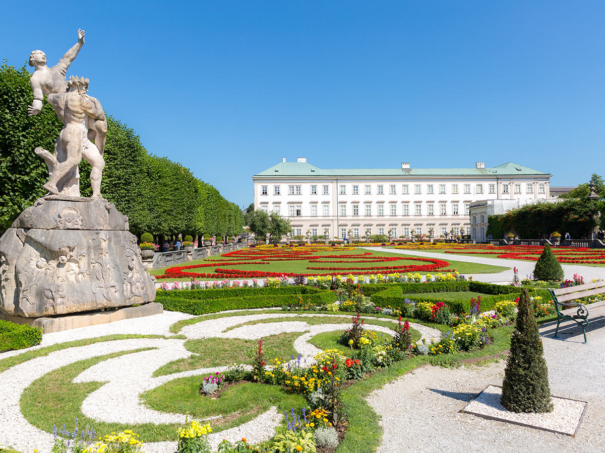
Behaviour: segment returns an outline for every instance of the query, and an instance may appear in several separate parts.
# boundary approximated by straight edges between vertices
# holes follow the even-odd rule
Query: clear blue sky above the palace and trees
[[[53,11],[53,12],[51,12]],[[255,173],[515,161],[605,173],[605,2],[4,2],[1,58],[55,63],[239,205]],[[59,25],[57,25],[59,24]]]

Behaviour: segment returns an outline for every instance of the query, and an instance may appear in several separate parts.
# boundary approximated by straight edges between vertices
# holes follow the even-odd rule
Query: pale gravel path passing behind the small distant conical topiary
[[[467,256],[467,255],[454,255],[449,253],[434,253],[434,252],[423,252],[419,250],[403,250],[393,249],[385,247],[372,247],[367,248],[369,251],[380,251],[389,253],[400,253],[403,255],[416,255],[425,258],[437,258],[441,260],[452,260],[452,261],[463,261],[467,263],[479,263],[492,266],[510,266],[508,271],[496,272],[494,274],[465,274],[466,277],[472,276],[473,280],[476,281],[488,281],[488,282],[510,282],[512,281],[512,268],[516,267],[519,269],[519,278],[525,278],[526,276],[534,272],[535,262],[526,260],[508,260],[499,258],[484,258],[480,255]],[[565,272],[565,278],[574,278],[574,274],[580,274],[584,277],[584,281],[590,281],[593,278],[605,278],[605,268],[598,268],[593,266],[581,266],[581,265],[566,265],[562,264],[561,267]]]

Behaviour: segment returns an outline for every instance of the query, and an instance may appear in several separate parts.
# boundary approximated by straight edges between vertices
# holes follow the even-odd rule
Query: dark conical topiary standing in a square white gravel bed
[[[548,368],[527,289],[519,298],[517,328],[511,336],[500,402],[513,412],[552,411]]]

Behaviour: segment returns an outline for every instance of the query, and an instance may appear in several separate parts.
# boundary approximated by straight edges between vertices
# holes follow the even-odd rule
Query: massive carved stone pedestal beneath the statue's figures
[[[128,217],[103,199],[48,196],[0,239],[0,312],[39,318],[155,299]]]

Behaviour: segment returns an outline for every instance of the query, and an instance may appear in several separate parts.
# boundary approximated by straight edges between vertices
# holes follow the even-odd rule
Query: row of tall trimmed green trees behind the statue
[[[25,66],[0,65],[0,232],[36,199],[48,179],[47,167],[33,152],[53,150],[63,124],[48,102],[34,117],[30,76]],[[178,162],[149,155],[134,130],[107,115],[105,169],[101,192],[128,216],[130,230],[154,234],[233,236],[244,225],[241,209]],[[90,196],[90,165],[80,163],[80,192]]]

